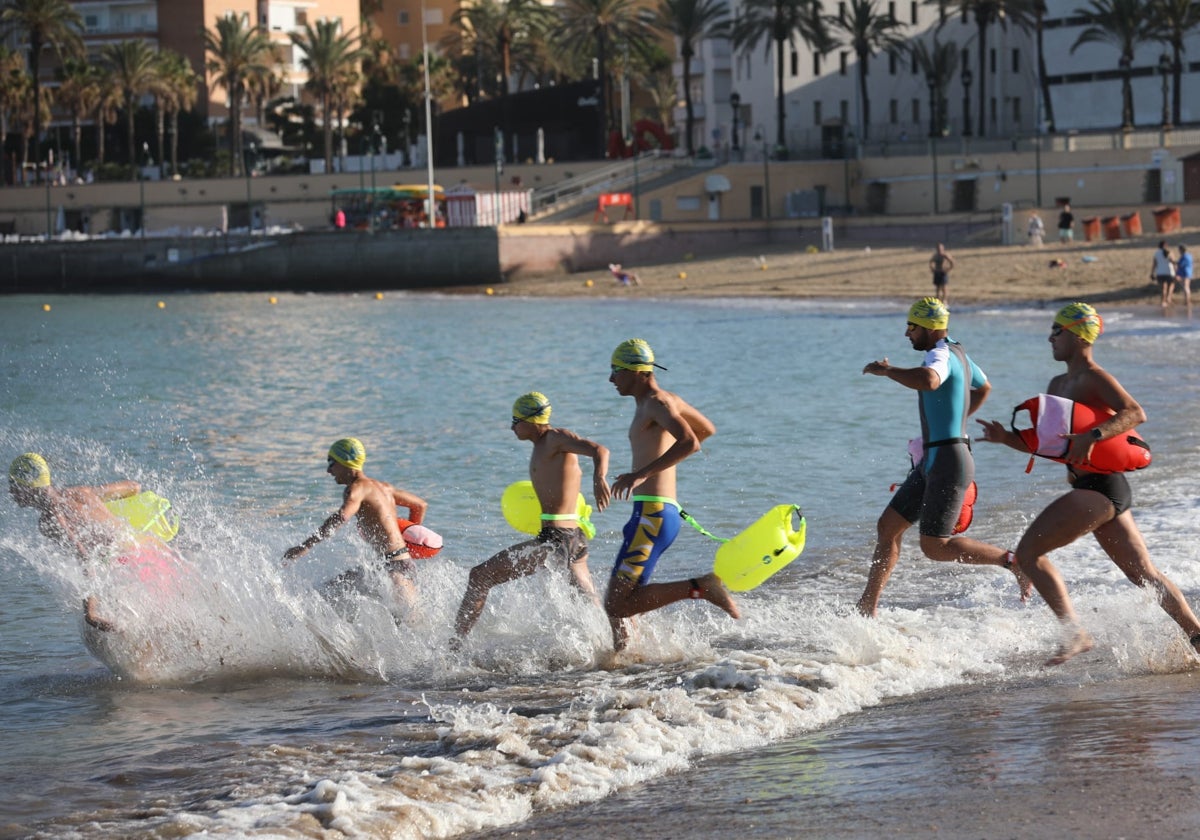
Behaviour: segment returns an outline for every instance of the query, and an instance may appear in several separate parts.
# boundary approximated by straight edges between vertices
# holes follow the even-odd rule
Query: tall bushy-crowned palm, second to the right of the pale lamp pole
[[[554,12],[558,23],[550,37],[558,48],[595,56],[600,76],[600,150],[605,154],[608,126],[616,122],[608,95],[610,54],[617,44],[636,53],[650,49],[654,32],[646,0],[563,0]]]

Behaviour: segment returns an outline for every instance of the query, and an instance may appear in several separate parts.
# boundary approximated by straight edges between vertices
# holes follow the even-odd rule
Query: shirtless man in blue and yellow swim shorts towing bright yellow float
[[[608,382],[620,396],[634,397],[636,404],[629,427],[632,469],[612,484],[614,498],[634,502],[604,601],[617,650],[629,643],[624,619],[689,598],[704,599],[733,618],[742,618],[738,605],[713,572],[688,581],[649,582],[683,522],[676,502],[676,466],[700,451],[701,443],[716,431],[696,408],[659,386],[655,367],[666,370],[655,364],[654,352],[641,338],[624,341],[612,353]]]

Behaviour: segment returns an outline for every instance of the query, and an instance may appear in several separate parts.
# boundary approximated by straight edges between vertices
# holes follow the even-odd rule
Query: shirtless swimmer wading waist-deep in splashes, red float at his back
[[[413,582],[415,566],[401,533],[396,505],[408,509],[407,520],[410,523],[421,524],[428,504],[419,496],[392,487],[386,481],[367,478],[362,472],[366,460],[366,448],[358,438],[342,438],[329,448],[329,466],[325,472],[346,487],[342,492],[342,506],[312,536],[288,548],[283,559],[287,562],[302,557],[314,545],[332,536],[352,517],[356,517],[359,535],[378,554],[383,571],[395,587],[397,600],[404,607],[413,607],[416,604],[416,586]],[[364,570],[352,569],[329,581],[325,589],[336,593],[356,588],[361,586],[362,578]]]

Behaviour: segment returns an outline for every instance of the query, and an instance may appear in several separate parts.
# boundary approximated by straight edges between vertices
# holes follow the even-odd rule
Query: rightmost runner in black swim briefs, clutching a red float
[[[1067,434],[1067,481],[1072,485],[1046,506],[1026,529],[1016,545],[1016,562],[1033,581],[1045,602],[1062,623],[1066,640],[1046,665],[1062,665],[1092,649],[1092,637],[1079,623],[1062,575],[1050,562],[1050,552],[1068,546],[1085,534],[1094,534],[1112,562],[1139,587],[1153,587],[1158,602],[1200,653],[1200,622],[1171,583],[1150,559],[1146,541],[1133,521],[1133,493],[1123,473],[1096,473],[1088,469],[1092,448],[1145,422],[1146,413],[1116,378],[1097,364],[1092,344],[1104,331],[1104,320],[1088,304],[1068,304],[1055,316],[1050,347],[1067,371],[1046,386],[1046,394],[1064,397],[1100,413],[1108,419],[1078,434]],[[1028,448],[1021,437],[996,420],[979,420],[983,440],[1002,443],[1020,452]]]

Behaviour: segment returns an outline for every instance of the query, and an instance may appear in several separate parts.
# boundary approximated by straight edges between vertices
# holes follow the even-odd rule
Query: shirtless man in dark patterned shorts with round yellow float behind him
[[[470,570],[455,620],[456,636],[451,641],[455,649],[479,620],[492,588],[542,566],[568,569],[576,588],[600,606],[588,572],[588,540],[577,512],[580,456],[592,458],[592,490],[596,510],[604,510],[608,506],[608,450],[575,432],[551,426],[550,414],[550,400],[538,391],[522,395],[512,404],[512,433],[518,440],[533,443],[529,478],[541,506],[541,530],[534,539],[510,546]]]

